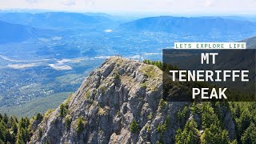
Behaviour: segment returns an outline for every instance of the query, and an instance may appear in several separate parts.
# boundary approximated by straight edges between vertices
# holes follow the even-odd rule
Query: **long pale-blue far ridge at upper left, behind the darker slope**
[[[38,14],[2,13],[0,20],[27,26],[42,28],[98,26],[112,22],[110,18],[101,15],[88,16],[78,13],[47,12]]]

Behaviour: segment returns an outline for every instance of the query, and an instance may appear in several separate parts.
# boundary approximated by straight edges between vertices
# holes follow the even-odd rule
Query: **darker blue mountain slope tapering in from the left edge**
[[[0,43],[20,42],[28,38],[46,36],[46,30],[0,21]]]

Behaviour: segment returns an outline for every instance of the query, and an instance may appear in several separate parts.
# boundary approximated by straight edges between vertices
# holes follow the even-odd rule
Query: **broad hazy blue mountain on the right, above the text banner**
[[[173,34],[247,34],[256,32],[256,23],[217,17],[184,18],[161,16],[126,22],[120,26],[120,29]]]

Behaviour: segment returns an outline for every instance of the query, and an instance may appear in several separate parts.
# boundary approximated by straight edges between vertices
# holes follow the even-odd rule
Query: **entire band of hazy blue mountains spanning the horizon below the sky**
[[[237,39],[256,35],[256,22],[246,21],[240,17],[150,17],[140,18],[132,22],[124,22],[110,14],[102,13],[66,13],[46,12],[30,13],[0,13],[2,33],[0,42],[20,42],[27,38],[38,38],[42,35],[63,32],[70,35],[74,32],[100,32],[110,30],[119,34],[139,32],[161,32],[179,34],[181,38],[193,35],[198,38],[230,37]],[[45,30],[42,30],[45,29]],[[48,31],[46,31],[48,30]],[[75,33],[76,33],[75,32]],[[76,33],[78,34],[78,33]],[[241,37],[241,38],[240,38]]]

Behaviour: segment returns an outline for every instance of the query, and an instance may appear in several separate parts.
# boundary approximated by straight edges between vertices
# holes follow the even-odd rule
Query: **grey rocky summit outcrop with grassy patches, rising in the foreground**
[[[45,114],[30,142],[174,143],[176,115],[187,104],[162,100],[157,66],[111,57],[62,106]]]

